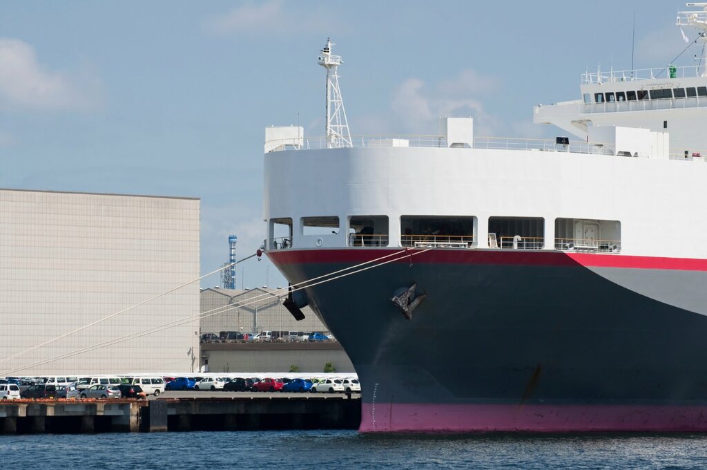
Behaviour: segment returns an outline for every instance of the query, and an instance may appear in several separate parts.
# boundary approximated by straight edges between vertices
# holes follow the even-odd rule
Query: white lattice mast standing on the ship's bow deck
[[[332,55],[332,45],[332,40],[327,38],[327,45],[318,57],[319,64],[327,69],[327,147],[353,147],[337,74],[337,67],[344,61],[340,55]]]

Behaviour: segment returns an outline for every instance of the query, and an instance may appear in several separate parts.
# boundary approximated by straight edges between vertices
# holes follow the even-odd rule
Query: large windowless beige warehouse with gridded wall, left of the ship
[[[199,206],[0,189],[0,376],[198,369]]]

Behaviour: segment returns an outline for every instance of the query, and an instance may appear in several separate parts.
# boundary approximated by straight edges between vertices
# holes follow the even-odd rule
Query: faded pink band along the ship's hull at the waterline
[[[707,406],[362,403],[361,432],[707,431]]]

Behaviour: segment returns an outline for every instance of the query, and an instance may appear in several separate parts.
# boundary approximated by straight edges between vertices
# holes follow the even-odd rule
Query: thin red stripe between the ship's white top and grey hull
[[[415,253],[421,250],[410,250]],[[634,268],[684,271],[707,271],[707,260],[692,258],[662,258],[625,256],[621,254],[567,253],[561,251],[491,251],[436,249],[416,256],[405,256],[400,249],[324,249],[268,251],[276,265],[310,263],[364,263],[390,253],[400,253],[396,263],[469,264],[469,265],[529,265],[529,266],[588,266],[594,268]],[[391,256],[381,262],[395,259]]]

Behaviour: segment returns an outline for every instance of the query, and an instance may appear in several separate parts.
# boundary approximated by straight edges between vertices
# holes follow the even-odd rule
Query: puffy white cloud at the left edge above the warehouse
[[[21,40],[0,38],[0,64],[0,103],[5,105],[87,110],[98,103],[95,81],[45,69],[37,61],[34,47]]]

